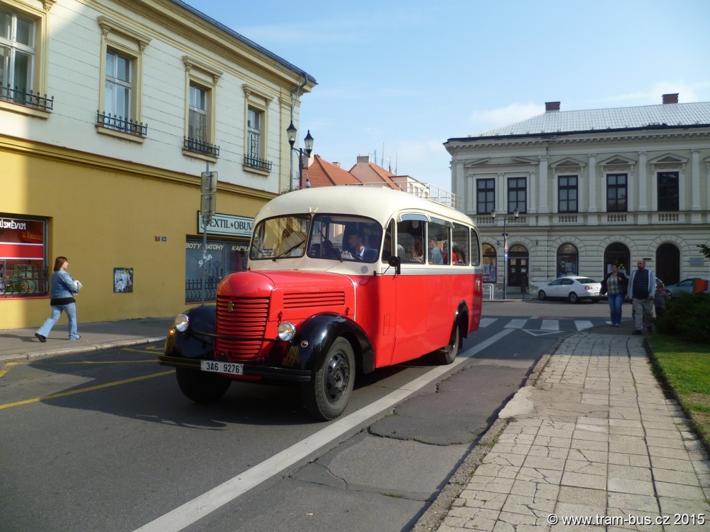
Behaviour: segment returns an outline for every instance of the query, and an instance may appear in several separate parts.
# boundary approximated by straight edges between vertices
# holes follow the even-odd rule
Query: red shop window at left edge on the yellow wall
[[[47,294],[47,224],[43,219],[0,217],[0,295]]]

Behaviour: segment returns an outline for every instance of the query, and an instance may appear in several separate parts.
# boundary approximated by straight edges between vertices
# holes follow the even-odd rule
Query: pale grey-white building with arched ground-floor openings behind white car
[[[488,282],[534,294],[561,274],[600,279],[611,262],[628,272],[638,258],[666,284],[710,275],[697,247],[710,238],[710,102],[662,101],[588,111],[548,102],[538,116],[447,140]]]

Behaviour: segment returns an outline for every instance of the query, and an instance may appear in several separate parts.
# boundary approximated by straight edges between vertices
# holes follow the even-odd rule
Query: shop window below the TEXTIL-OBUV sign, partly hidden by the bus
[[[246,270],[249,255],[247,240],[207,240],[203,250],[202,238],[187,238],[185,244],[185,303],[202,300],[204,268],[204,299],[217,299],[217,285],[227,275]]]

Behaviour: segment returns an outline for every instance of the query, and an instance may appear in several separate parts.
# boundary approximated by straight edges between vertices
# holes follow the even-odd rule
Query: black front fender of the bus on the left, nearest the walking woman
[[[180,358],[212,358],[214,333],[217,330],[217,307],[202,305],[183,312],[190,327],[180,333],[170,328],[165,338],[165,356]]]

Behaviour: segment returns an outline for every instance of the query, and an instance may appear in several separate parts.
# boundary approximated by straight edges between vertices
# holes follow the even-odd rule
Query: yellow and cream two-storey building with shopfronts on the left
[[[290,187],[286,129],[315,79],[181,1],[0,0],[0,15],[0,328],[48,317],[58,255],[80,323],[176,314],[203,277],[214,298]]]

